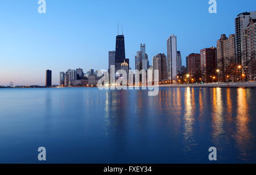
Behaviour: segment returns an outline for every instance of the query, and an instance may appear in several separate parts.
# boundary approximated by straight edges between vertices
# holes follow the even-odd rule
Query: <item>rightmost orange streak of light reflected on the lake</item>
[[[246,99],[246,89],[237,89],[237,132],[236,132],[236,147],[239,150],[239,157],[246,160],[250,155],[248,152],[251,149],[251,139],[253,135],[249,129],[249,113]]]

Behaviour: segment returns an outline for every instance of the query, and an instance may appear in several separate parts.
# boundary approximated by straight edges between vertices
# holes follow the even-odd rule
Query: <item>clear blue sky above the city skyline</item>
[[[255,11],[255,0],[46,0],[39,14],[38,0],[0,2],[0,86],[45,85],[46,70],[52,84],[59,72],[81,68],[108,69],[108,52],[115,50],[117,23],[125,35],[126,58],[134,69],[140,44],[152,57],[167,54],[167,39],[177,36],[182,64],[190,53],[216,46],[220,35],[234,33],[234,18]]]

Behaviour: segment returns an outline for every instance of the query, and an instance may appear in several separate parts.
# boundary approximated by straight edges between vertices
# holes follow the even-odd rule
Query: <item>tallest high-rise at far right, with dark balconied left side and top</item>
[[[242,64],[242,32],[247,28],[247,25],[250,22],[251,19],[256,18],[256,11],[251,12],[243,12],[239,15],[237,15],[237,18],[235,19],[235,30],[236,30],[236,58],[237,63]]]

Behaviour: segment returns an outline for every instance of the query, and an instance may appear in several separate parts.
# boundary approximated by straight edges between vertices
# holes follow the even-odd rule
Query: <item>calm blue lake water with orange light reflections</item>
[[[255,88],[0,89],[0,163],[256,163]]]

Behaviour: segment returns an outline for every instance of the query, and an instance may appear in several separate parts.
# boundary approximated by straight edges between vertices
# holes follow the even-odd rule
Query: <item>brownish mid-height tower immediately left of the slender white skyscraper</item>
[[[159,81],[167,79],[167,58],[159,53],[152,58],[153,70],[159,70]],[[154,73],[154,72],[153,72]],[[153,76],[154,77],[154,76]]]

